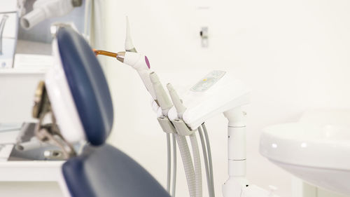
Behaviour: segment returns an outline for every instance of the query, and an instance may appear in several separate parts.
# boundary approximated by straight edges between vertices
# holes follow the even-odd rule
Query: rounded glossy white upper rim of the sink
[[[340,130],[341,134],[346,135],[346,140],[339,140],[339,137],[327,138],[320,134],[321,131],[317,131],[325,126],[327,125],[302,122],[269,126],[260,137],[260,154],[281,163],[350,170],[350,126],[333,124],[335,132]],[[312,131],[304,133],[307,129]],[[344,130],[349,130],[349,134],[344,133]],[[348,154],[342,154],[344,152]],[[342,159],[346,155],[349,159]]]

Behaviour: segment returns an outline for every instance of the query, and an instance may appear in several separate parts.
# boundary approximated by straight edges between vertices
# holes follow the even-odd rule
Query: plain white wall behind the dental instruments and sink
[[[199,10],[208,6],[209,11]],[[192,85],[212,69],[235,73],[253,90],[248,111],[248,179],[291,196],[290,175],[258,153],[262,128],[296,121],[304,109],[350,107],[350,1],[107,1],[106,49],[124,49],[125,15],[141,53],[164,83]],[[209,26],[209,48],[199,31]],[[166,147],[150,96],[129,67],[109,60],[116,119],[110,142],[165,184]],[[226,120],[207,121],[216,196],[226,179]],[[179,165],[181,165],[179,161]],[[188,196],[179,168],[178,196]],[[204,186],[206,184],[204,183]],[[204,192],[206,193],[206,192]]]

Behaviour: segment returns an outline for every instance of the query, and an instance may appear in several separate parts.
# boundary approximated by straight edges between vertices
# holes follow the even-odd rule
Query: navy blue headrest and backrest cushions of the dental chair
[[[90,46],[69,28],[59,29],[57,43],[87,141],[94,145],[62,165],[71,196],[170,197],[141,165],[104,144],[113,125],[113,106],[106,78]]]

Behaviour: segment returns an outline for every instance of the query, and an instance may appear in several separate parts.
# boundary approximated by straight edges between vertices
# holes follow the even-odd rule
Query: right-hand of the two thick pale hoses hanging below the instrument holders
[[[193,133],[193,135],[190,135],[190,140],[193,151],[193,161],[195,161],[196,197],[202,197],[202,166],[200,163],[200,149],[198,148],[198,142],[195,133]]]

